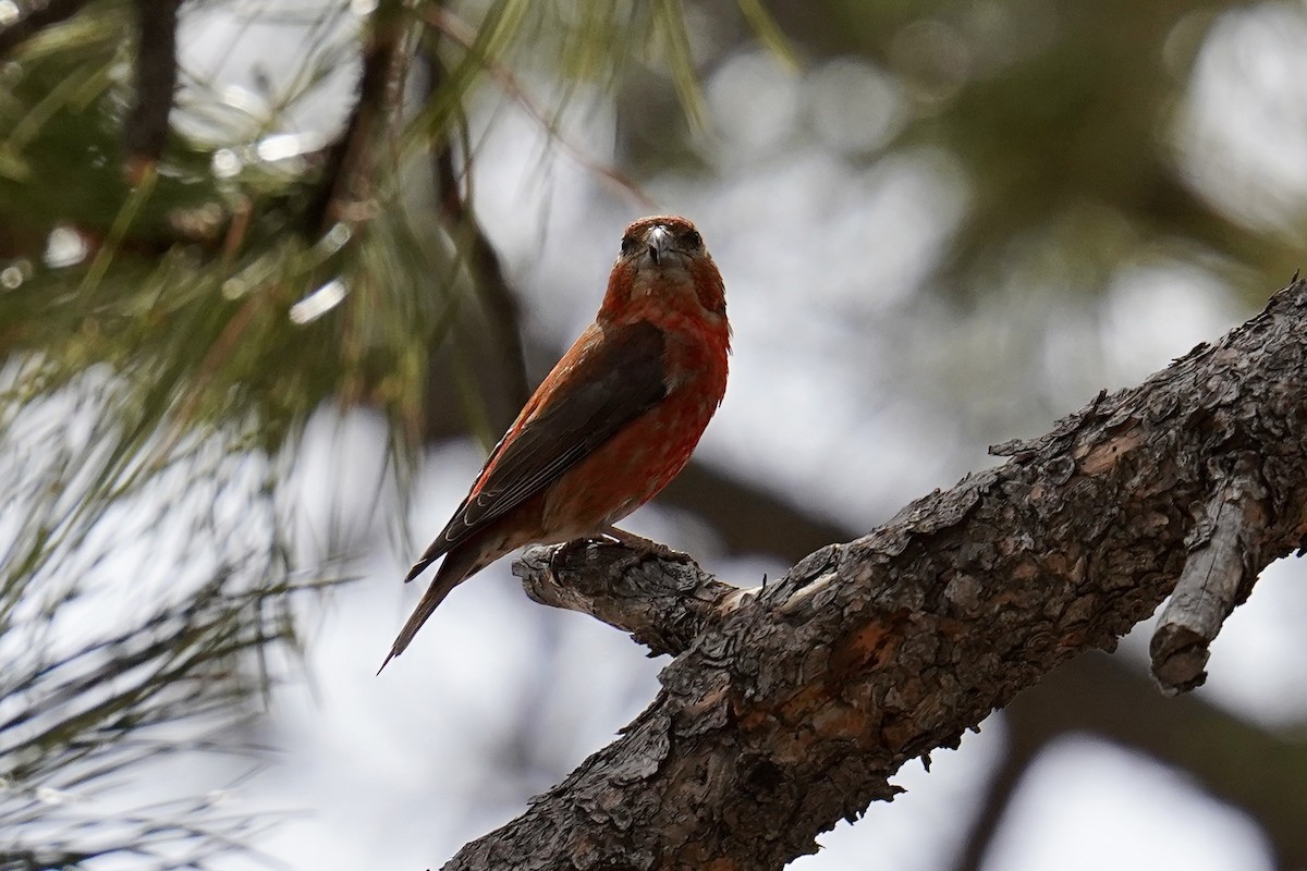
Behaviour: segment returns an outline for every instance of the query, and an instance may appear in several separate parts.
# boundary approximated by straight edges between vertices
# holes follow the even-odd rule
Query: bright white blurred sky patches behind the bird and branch
[[[1304,165],[1286,155],[1307,153],[1307,18],[1300,7],[1266,7],[1230,16],[1214,34],[1182,121],[1183,159],[1213,200],[1249,223],[1273,219],[1277,208],[1300,210]],[[191,51],[216,57],[233,35],[210,17],[192,31]],[[277,39],[267,33],[239,39],[235,59],[267,64],[290,55],[265,51]],[[233,99],[259,99],[229,74]],[[348,93],[352,74],[340,82]],[[999,296],[959,321],[916,286],[966,208],[965,182],[948,155],[897,154],[872,167],[846,159],[876,148],[901,120],[884,76],[840,60],[792,77],[750,54],[725,64],[707,95],[720,128],[741,132],[719,140],[711,174],[642,180],[665,210],[699,225],[727,279],[731,387],[699,456],[853,528],[869,529],[992,462],[987,444],[1042,432],[1100,387],[1134,384],[1249,313],[1205,276],[1154,264],[1123,273],[1100,309],[1031,293]],[[303,129],[290,132],[320,133],[308,119],[340,118],[342,106],[315,103],[298,114]],[[870,120],[850,123],[855,116]],[[493,123],[477,158],[478,214],[521,293],[528,329],[562,349],[591,320],[621,229],[638,212],[566,157],[541,182],[541,132],[505,101],[488,101],[482,121]],[[606,157],[612,111],[597,104],[567,136]],[[1291,196],[1266,205],[1247,197],[1238,179]],[[324,417],[314,432],[306,482],[383,451],[379,423],[367,415]],[[416,541],[443,525],[480,462],[471,445],[430,454],[412,518]],[[358,492],[305,483],[303,504],[314,509],[305,522],[325,522],[332,498]],[[656,508],[630,526],[691,550],[729,581],[753,584],[784,568],[715,558],[703,530]],[[420,589],[399,584],[406,560],[388,550],[363,568],[367,580],[310,615],[312,684],[276,695],[280,757],[231,797],[234,810],[303,811],[256,845],[290,867],[439,867],[612,740],[656,691],[665,659],[646,659],[595,620],[533,605],[508,560],[451,595],[414,646],[376,676]],[[1299,563],[1268,572],[1217,641],[1206,699],[1266,722],[1307,717],[1302,581]],[[1128,642],[1120,656],[1138,657],[1138,646]],[[840,824],[819,838],[821,854],[793,867],[942,867],[1001,733],[991,721],[959,752],[936,753],[929,774],[910,765],[898,778],[906,795],[872,806],[853,827]],[[196,769],[214,782],[231,776],[218,763]],[[1270,863],[1256,827],[1183,776],[1068,740],[1030,772],[988,867],[1257,871]]]

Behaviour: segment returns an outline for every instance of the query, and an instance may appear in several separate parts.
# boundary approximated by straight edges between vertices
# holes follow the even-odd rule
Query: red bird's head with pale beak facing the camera
[[[725,328],[721,273],[699,231],[676,215],[640,218],[626,227],[600,309],[614,320],[661,312]]]

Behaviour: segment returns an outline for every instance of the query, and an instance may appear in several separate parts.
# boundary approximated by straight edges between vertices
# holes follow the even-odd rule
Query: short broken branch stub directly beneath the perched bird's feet
[[[603,539],[532,547],[512,572],[536,602],[629,632],[650,656],[681,653],[752,593],[691,560],[637,554]]]

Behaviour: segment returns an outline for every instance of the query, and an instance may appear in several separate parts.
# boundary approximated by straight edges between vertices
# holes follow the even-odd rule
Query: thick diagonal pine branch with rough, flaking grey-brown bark
[[[697,632],[621,739],[446,868],[779,868],[891,797],[904,761],[957,746],[1059,663],[1111,649],[1191,556],[1210,559],[1209,505],[1233,481],[1256,483],[1240,490],[1259,505],[1246,513],[1259,522],[1239,530],[1248,577],[1300,547],[1304,320],[1307,282],[1295,281],[1218,345],[1099,394],[1040,439],[996,448],[1012,457],[1002,466],[757,594],[681,618]],[[614,618],[622,597],[605,590],[633,572],[656,577],[660,563],[555,552],[525,571],[566,582],[589,563],[608,575],[586,589],[606,602],[586,610],[642,624],[642,609]],[[690,584],[684,568],[673,562],[670,589]],[[685,633],[659,637],[678,646],[667,639]]]

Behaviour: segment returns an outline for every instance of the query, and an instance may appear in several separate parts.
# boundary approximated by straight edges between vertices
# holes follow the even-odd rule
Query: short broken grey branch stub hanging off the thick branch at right
[[[1206,680],[1209,646],[1256,580],[1259,563],[1249,542],[1257,535],[1249,530],[1266,522],[1265,498],[1255,461],[1242,457],[1191,534],[1189,558],[1149,645],[1153,676],[1165,692],[1185,692]]]

